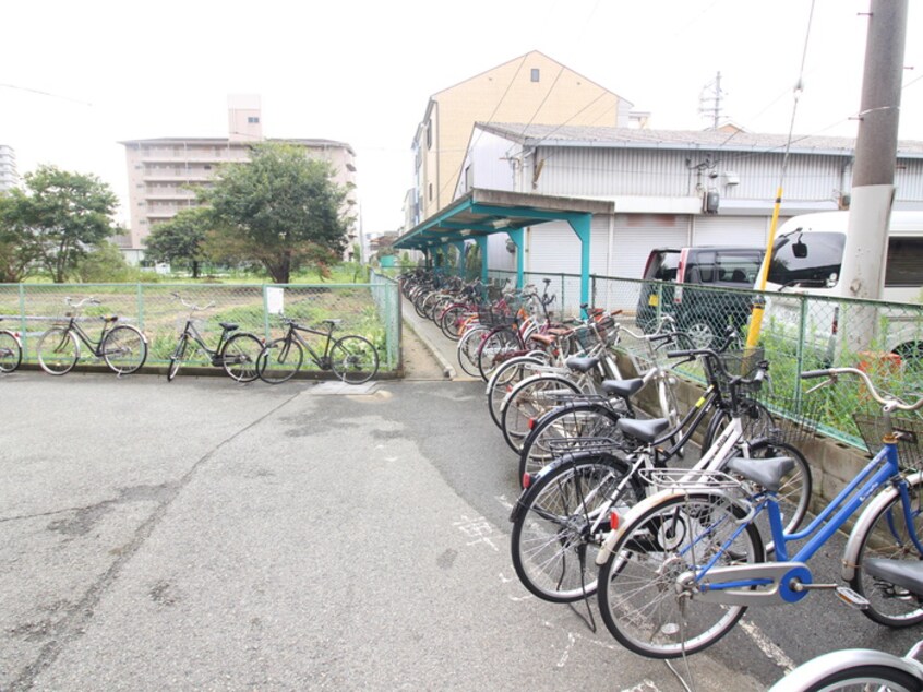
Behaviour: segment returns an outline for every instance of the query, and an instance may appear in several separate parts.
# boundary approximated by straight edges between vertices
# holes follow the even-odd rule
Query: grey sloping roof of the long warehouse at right
[[[642,130],[636,128],[596,128],[585,126],[547,126],[479,122],[488,132],[526,146],[582,146],[611,148],[723,150],[744,152],[784,152],[788,135],[754,134],[742,130]],[[811,154],[851,156],[855,140],[839,136],[793,135],[790,151]],[[898,143],[898,154],[923,156],[923,142]]]

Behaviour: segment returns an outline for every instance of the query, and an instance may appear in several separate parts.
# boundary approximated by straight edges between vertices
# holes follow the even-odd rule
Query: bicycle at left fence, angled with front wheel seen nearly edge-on
[[[224,369],[225,373],[231,380],[236,380],[237,382],[252,382],[257,378],[256,361],[263,351],[263,342],[257,336],[249,332],[238,332],[232,336],[228,336],[228,334],[238,329],[238,325],[229,322],[219,322],[221,335],[215,348],[211,348],[196,329],[192,315],[213,308],[215,303],[209,302],[204,307],[200,307],[187,302],[179,294],[172,294],[172,296],[189,308],[189,317],[187,317],[185,325],[180,332],[172,354],[170,354],[170,365],[167,368],[167,382],[172,382],[173,378],[177,377],[183,360],[189,356],[188,351],[190,348],[192,348],[192,353],[195,353],[197,349],[205,354],[212,366]]]

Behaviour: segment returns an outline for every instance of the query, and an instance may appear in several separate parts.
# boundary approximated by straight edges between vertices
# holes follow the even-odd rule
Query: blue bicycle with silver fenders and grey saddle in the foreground
[[[631,651],[655,658],[675,658],[703,651],[740,620],[748,606],[787,605],[811,590],[836,590],[848,605],[888,627],[923,621],[923,604],[894,577],[872,574],[867,559],[923,557],[923,472],[904,473],[903,456],[919,460],[921,420],[892,420],[894,411],[915,411],[923,398],[903,403],[880,393],[856,368],[803,372],[803,379],[855,375],[865,393],[882,405],[882,446],[847,487],[801,530],[782,526],[777,492],[791,469],[786,457],[758,464],[732,458],[724,470],[734,477],[683,477],[636,504],[616,521],[597,554],[602,618]],[[856,417],[856,422],[860,417]],[[867,422],[867,421],[866,421]],[[860,423],[862,429],[863,423]],[[874,433],[864,436],[866,443]],[[870,444],[874,450],[875,445]],[[916,496],[914,498],[914,496]],[[843,552],[848,584],[814,584],[808,562],[864,505]],[[774,560],[766,561],[755,522],[768,517]],[[789,544],[806,541],[793,556]]]

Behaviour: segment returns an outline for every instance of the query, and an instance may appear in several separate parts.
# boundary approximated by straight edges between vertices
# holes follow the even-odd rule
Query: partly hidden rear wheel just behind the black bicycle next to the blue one
[[[563,454],[582,449],[580,440],[608,438],[613,446],[625,439],[616,423],[621,414],[597,402],[578,402],[551,409],[539,418],[519,451],[519,482]]]

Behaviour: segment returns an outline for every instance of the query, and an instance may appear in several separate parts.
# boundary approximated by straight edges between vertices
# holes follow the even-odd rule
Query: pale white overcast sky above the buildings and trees
[[[899,136],[923,141],[923,7],[909,0]],[[812,11],[813,8],[813,11]],[[0,144],[21,175],[98,176],[122,200],[120,141],[227,136],[257,94],[268,138],[347,142],[367,234],[398,229],[429,97],[540,50],[651,114],[700,130],[855,136],[870,0],[8,0]],[[794,85],[801,79],[798,100]]]

